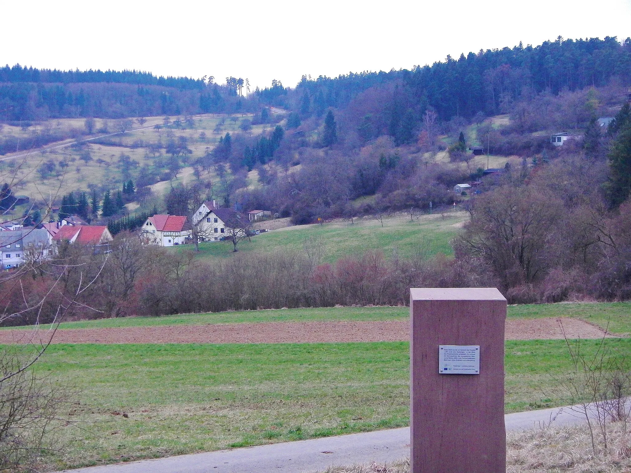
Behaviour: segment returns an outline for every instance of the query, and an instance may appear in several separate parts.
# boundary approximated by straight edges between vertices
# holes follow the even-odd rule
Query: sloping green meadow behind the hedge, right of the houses
[[[456,237],[466,213],[421,216],[410,218],[384,218],[379,221],[364,219],[351,223],[327,223],[324,225],[299,225],[274,230],[252,237],[252,242],[239,243],[239,252],[271,253],[300,250],[308,237],[322,237],[326,247],[325,262],[334,262],[348,255],[361,255],[367,250],[383,251],[391,257],[396,250],[402,257],[425,250],[429,255],[444,253],[452,255],[449,240]],[[232,243],[208,242],[199,245],[200,257],[230,257]],[[189,248],[186,248],[189,249]],[[181,250],[174,248],[174,251]]]

